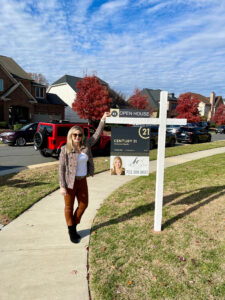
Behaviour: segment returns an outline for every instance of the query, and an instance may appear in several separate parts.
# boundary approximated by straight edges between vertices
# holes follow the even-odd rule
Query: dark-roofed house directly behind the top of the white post
[[[150,107],[153,108],[152,117],[156,117],[159,111],[159,101],[160,101],[160,92],[161,90],[152,90],[152,89],[143,89],[141,94],[147,96]],[[177,116],[176,112],[177,107],[177,98],[174,96],[174,93],[168,93],[168,102],[167,102],[167,117],[175,118]]]

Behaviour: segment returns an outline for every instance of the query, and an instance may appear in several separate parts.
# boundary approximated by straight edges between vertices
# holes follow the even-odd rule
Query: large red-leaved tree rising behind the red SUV
[[[77,82],[76,99],[72,104],[80,118],[90,121],[101,119],[105,111],[109,111],[112,101],[108,87],[103,85],[96,76],[85,76]]]

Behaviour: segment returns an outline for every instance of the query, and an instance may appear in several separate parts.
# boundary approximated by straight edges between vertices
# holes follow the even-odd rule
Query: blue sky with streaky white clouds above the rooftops
[[[1,0],[0,55],[53,83],[98,77],[225,97],[225,0]]]

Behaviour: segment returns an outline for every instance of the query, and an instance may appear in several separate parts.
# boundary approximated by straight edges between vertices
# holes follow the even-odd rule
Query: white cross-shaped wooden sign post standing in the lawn
[[[109,124],[135,124],[135,125],[159,125],[157,170],[156,170],[156,193],[155,193],[155,216],[154,231],[161,231],[162,206],[163,206],[163,183],[165,164],[166,125],[186,125],[187,119],[167,119],[168,92],[160,93],[159,118],[106,118]]]

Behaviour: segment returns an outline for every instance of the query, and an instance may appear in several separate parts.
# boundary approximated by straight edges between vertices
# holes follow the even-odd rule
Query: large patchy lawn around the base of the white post
[[[165,170],[160,234],[155,174],[114,192],[92,228],[92,299],[224,299],[224,169],[220,154]]]

